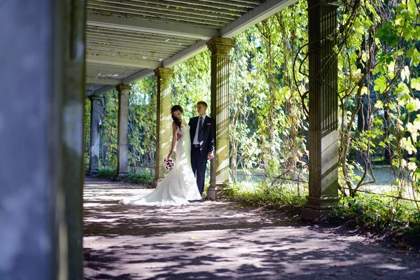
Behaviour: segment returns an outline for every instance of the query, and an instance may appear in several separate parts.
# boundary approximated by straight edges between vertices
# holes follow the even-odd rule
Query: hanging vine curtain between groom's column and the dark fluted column
[[[293,57],[307,39],[302,1],[235,38],[230,90],[231,171],[259,169],[267,181],[302,180],[304,116]],[[302,18],[301,18],[302,17]],[[303,66],[306,68],[306,65]]]

